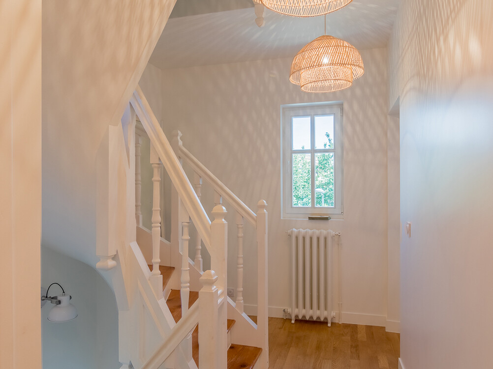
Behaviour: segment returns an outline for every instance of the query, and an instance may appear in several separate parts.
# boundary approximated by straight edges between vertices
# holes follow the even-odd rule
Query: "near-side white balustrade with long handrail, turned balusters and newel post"
[[[174,190],[176,191],[176,201],[175,206],[178,209],[178,224],[177,228],[179,228],[180,237],[178,240],[180,241],[182,259],[181,259],[181,276],[180,276],[180,298],[181,298],[181,308],[182,308],[182,316],[183,319],[187,319],[188,311],[188,301],[189,301],[189,291],[190,291],[190,270],[189,270],[189,257],[188,257],[188,242],[189,242],[189,226],[190,222],[193,222],[198,237],[200,237],[200,245],[197,242],[196,245],[196,255],[195,259],[199,261],[202,259],[200,255],[201,243],[203,242],[209,253],[211,254],[211,268],[215,272],[217,279],[214,279],[213,286],[210,284],[204,288],[210,292],[213,291],[213,296],[215,296],[215,303],[211,298],[204,298],[204,301],[208,301],[209,304],[204,307],[204,302],[201,303],[201,298],[199,297],[199,305],[201,307],[201,317],[206,317],[207,321],[215,322],[214,326],[211,324],[206,324],[206,322],[201,323],[200,334],[208,339],[199,338],[199,342],[201,342],[201,349],[199,352],[199,360],[201,362],[208,362],[208,357],[214,357],[214,363],[216,365],[210,366],[210,368],[226,368],[226,320],[227,320],[227,304],[226,301],[226,280],[227,280],[227,223],[224,219],[224,215],[226,210],[222,206],[215,206],[212,210],[212,214],[215,216],[214,221],[211,223],[209,217],[207,216],[204,208],[199,200],[200,196],[200,185],[201,180],[195,181],[195,188],[192,186],[187,176],[185,175],[181,163],[178,160],[174,150],[164,135],[164,132],[161,129],[161,126],[157,122],[156,117],[152,113],[148,102],[146,101],[144,95],[141,92],[141,89],[138,87],[134,92],[134,95],[131,99],[131,104],[139,117],[145,132],[149,136],[151,143],[151,165],[153,168],[153,200],[152,200],[152,273],[150,277],[151,285],[155,292],[159,289],[162,296],[162,276],[159,272],[159,246],[161,241],[161,216],[160,216],[160,175],[159,170],[160,166],[164,165],[172,184],[174,186]],[[179,141],[179,137],[177,137]],[[137,149],[137,147],[136,147]],[[162,163],[162,164],[161,164]],[[136,172],[140,167],[136,167]],[[140,193],[137,194],[137,173],[136,173],[136,203],[138,202],[138,197]],[[141,181],[139,181],[141,182]],[[139,198],[140,199],[140,198]],[[136,220],[141,218],[141,207],[137,207],[136,205]],[[139,223],[138,223],[139,224]],[[174,223],[176,224],[176,223]],[[176,232],[176,229],[173,230]],[[198,264],[199,264],[198,263]],[[161,278],[161,284],[158,286],[156,279]],[[202,292],[202,291],[201,291]],[[207,296],[207,292],[204,291]],[[204,295],[201,293],[201,295]],[[158,294],[156,293],[156,296]],[[202,319],[203,320],[203,319]],[[201,320],[201,321],[202,321]],[[179,324],[179,323],[178,323]],[[177,326],[178,326],[177,324]],[[181,327],[189,328],[186,323],[180,325]],[[186,329],[184,329],[186,331]],[[184,333],[184,331],[182,332]],[[175,341],[184,342],[188,339],[191,344],[190,339],[191,332],[186,332],[186,334],[180,334],[179,337],[175,337]],[[214,345],[208,345],[206,341],[211,341],[211,337],[213,337],[214,342],[221,342],[217,347]],[[191,353],[191,350],[189,351]],[[147,363],[146,367],[154,368],[156,363],[159,363],[165,360],[163,355],[156,354],[152,358],[151,363]],[[191,358],[190,358],[191,359]],[[204,365],[207,368],[207,365]],[[157,368],[157,367],[156,367]]]

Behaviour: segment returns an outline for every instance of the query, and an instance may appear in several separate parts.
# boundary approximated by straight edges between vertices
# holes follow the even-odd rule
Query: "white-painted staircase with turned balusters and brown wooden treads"
[[[142,226],[141,214],[140,151],[141,139],[146,136],[153,172],[150,230]],[[261,200],[256,213],[250,210],[183,147],[180,137],[176,131],[172,144],[169,142],[139,87],[122,125],[110,127],[110,173],[105,177],[109,195],[104,204],[108,227],[102,237],[108,243],[106,248],[99,244],[97,268],[112,285],[117,300],[121,368],[268,369],[267,204]],[[193,185],[185,165],[193,172]],[[161,237],[163,168],[173,185],[169,241]],[[201,202],[203,184],[210,185],[214,194],[212,221]],[[235,215],[231,226],[225,220],[228,211],[223,200]],[[244,311],[245,227],[255,240],[252,249],[248,243],[245,249],[256,250],[257,256],[255,313],[249,307],[255,322]],[[192,228],[196,236],[191,240]],[[231,286],[228,231],[237,233],[233,248],[236,301],[226,293]],[[204,263],[203,248],[210,255],[210,266]]]

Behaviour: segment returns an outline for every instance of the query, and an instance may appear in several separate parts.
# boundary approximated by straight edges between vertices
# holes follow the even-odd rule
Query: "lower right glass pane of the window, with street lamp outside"
[[[315,206],[334,207],[334,154],[315,154]]]

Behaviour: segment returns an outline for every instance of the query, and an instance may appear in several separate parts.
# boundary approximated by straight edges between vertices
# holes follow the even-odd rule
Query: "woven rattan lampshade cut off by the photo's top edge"
[[[266,8],[293,17],[315,17],[336,11],[352,0],[253,0]]]

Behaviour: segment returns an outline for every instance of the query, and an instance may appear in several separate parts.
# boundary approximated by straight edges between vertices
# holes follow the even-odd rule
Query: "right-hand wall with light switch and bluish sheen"
[[[389,46],[406,369],[492,367],[492,17],[490,0],[404,0]]]

